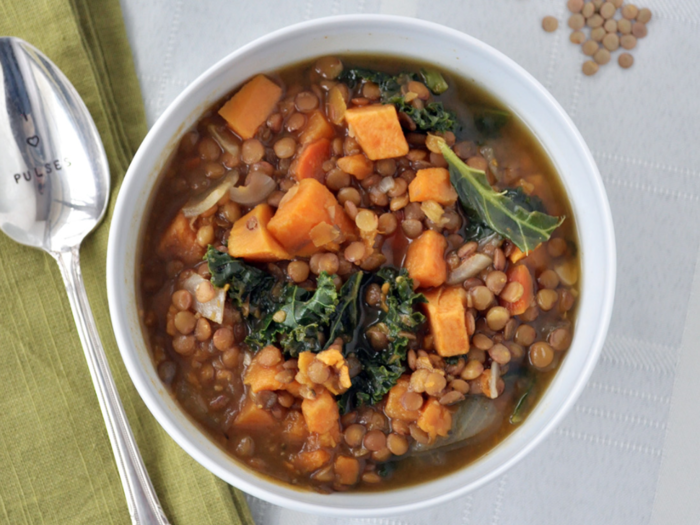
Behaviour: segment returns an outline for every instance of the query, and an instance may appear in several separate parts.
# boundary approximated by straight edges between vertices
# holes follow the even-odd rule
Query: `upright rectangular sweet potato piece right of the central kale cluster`
[[[442,357],[469,352],[469,334],[464,318],[467,293],[460,286],[431,290],[424,294],[424,308],[430,322],[433,345]]]

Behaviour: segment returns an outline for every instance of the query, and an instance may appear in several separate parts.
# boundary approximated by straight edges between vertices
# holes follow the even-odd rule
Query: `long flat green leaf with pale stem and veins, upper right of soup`
[[[494,190],[483,171],[467,166],[440,140],[440,151],[450,168],[450,181],[462,207],[473,210],[490,229],[499,233],[527,253],[545,242],[561,226],[564,217],[553,217],[524,207],[535,201],[525,201],[524,193]],[[515,198],[513,198],[515,196]]]

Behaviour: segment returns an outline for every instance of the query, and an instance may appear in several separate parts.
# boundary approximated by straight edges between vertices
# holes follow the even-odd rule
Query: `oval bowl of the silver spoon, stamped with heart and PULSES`
[[[65,251],[107,209],[104,147],[78,92],[36,48],[0,38],[0,64],[0,229],[19,243]]]

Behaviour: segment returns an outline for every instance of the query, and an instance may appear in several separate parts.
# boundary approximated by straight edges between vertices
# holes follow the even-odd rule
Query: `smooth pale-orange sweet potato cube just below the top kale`
[[[393,104],[348,109],[345,120],[370,160],[403,157],[408,153],[408,142]]]

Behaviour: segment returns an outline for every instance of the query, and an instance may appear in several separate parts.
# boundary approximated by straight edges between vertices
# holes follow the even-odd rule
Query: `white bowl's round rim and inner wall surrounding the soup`
[[[532,413],[471,465],[419,485],[374,493],[317,494],[270,481],[214,444],[173,401],[151,361],[136,301],[136,267],[146,206],[173,146],[211,104],[256,73],[320,55],[377,53],[429,62],[495,95],[543,144],[571,199],[582,261],[574,340]],[[498,51],[437,24],[391,16],[323,18],[275,31],[214,65],[168,107],[136,153],[117,199],[107,254],[114,331],[144,402],[195,460],[249,494],[291,509],[336,516],[382,516],[434,505],[480,487],[521,460],[561,421],[581,393],[607,333],[615,290],[615,241],[605,189],[578,130],[532,76]],[[537,483],[537,478],[533,478]]]

